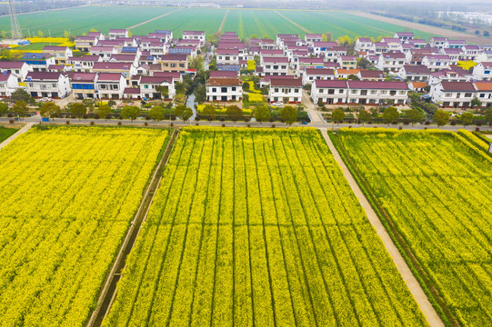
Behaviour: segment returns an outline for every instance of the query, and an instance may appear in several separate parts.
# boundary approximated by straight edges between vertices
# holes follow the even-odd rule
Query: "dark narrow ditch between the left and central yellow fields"
[[[128,228],[128,231],[126,232],[125,240],[120,247],[115,262],[111,267],[111,271],[106,277],[105,285],[99,295],[99,299],[97,300],[97,306],[92,312],[89,321],[86,323],[87,327],[100,326],[103,319],[107,315],[107,312],[111,309],[111,305],[115,301],[115,295],[117,292],[116,283],[121,277],[121,271],[126,267],[126,257],[136,243],[136,237],[140,233],[140,227],[142,223],[146,221],[150,205],[154,201],[154,195],[156,194],[156,190],[162,180],[163,169],[169,161],[169,157],[175,147],[178,134],[179,131],[174,130],[173,134],[169,138],[169,142],[166,145],[166,151],[157,164],[156,170],[152,175],[150,183],[147,185],[146,193],[142,198],[134,220],[131,222],[130,228]]]

